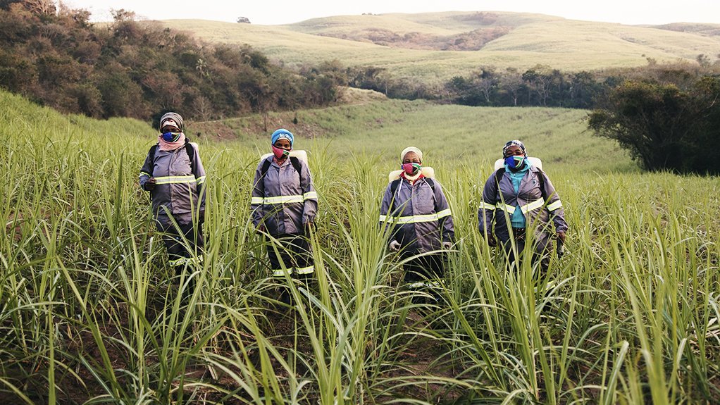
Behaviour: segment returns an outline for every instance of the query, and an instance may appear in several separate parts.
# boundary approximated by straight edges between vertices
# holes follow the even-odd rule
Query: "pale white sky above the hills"
[[[110,9],[145,19],[208,19],[253,24],[291,24],[316,17],[363,13],[529,12],[567,19],[620,24],[709,22],[720,24],[720,0],[62,0],[91,12],[91,21],[110,21]]]

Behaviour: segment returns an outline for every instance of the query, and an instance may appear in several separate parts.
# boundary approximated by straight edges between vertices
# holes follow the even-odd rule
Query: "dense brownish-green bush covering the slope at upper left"
[[[63,112],[148,119],[176,109],[194,119],[327,105],[333,76],[273,65],[249,46],[207,45],[114,11],[89,12],[52,0],[0,0],[0,87]]]

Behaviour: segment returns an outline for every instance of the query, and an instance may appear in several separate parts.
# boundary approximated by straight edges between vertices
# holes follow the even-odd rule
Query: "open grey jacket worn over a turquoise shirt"
[[[544,191],[540,189],[539,176],[544,176]],[[500,183],[495,182],[495,172],[485,182],[485,188],[482,190],[482,201],[477,217],[479,220],[480,234],[490,233],[490,226],[495,221],[495,237],[502,242],[510,240],[510,232],[508,230],[508,222],[505,220],[505,214],[508,218],[513,216],[516,209],[520,209],[525,217],[526,227],[534,227],[536,242],[544,248],[549,242],[549,222],[555,226],[555,232],[567,231],[567,223],[565,222],[564,211],[562,209],[562,201],[555,192],[550,179],[545,176],[539,168],[531,166],[530,170],[520,182],[518,193],[513,188],[513,181],[510,174],[505,171]],[[543,194],[547,201],[543,199]]]

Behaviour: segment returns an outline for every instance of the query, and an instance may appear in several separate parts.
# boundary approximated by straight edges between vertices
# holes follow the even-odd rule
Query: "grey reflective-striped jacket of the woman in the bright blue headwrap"
[[[265,176],[263,163],[271,164]],[[312,186],[310,168],[299,159],[300,173],[284,160],[278,165],[273,156],[261,160],[255,172],[250,209],[253,225],[264,224],[270,235],[302,234],[304,225],[315,221],[318,213],[318,193]]]

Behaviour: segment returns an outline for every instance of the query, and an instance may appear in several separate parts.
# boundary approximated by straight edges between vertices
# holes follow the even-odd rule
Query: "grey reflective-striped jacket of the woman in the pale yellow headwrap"
[[[440,182],[433,179],[433,183],[434,192],[426,178],[419,178],[412,185],[401,178],[395,195],[390,185],[385,189],[380,225],[385,229],[392,227],[390,241],[397,240],[406,254],[439,250],[441,242],[454,240],[450,206]]]

